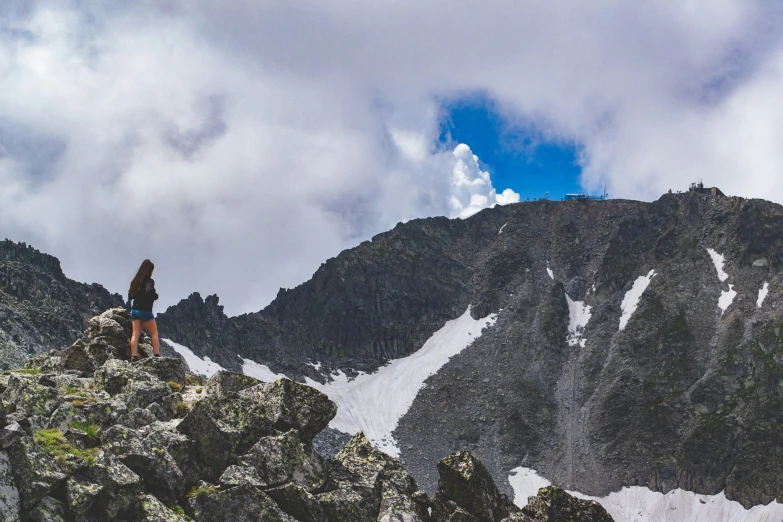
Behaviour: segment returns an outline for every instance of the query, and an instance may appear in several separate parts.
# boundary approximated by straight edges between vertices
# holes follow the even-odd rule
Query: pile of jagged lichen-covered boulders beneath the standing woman
[[[313,438],[337,412],[287,379],[209,380],[179,359],[129,363],[113,309],[84,340],[0,376],[0,520],[609,521],[595,502],[543,488],[523,509],[468,452],[438,463],[434,498],[360,432],[332,459]]]

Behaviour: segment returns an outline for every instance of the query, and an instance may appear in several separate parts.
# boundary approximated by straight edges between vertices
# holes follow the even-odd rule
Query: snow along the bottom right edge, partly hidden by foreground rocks
[[[514,503],[523,507],[538,489],[549,481],[528,468],[511,470],[508,482],[514,490]],[[780,522],[783,504],[777,501],[766,506],[745,509],[742,504],[728,500],[723,492],[717,495],[699,495],[675,489],[666,494],[643,486],[631,486],[610,493],[606,497],[590,497],[578,492],[570,494],[600,503],[616,522]]]

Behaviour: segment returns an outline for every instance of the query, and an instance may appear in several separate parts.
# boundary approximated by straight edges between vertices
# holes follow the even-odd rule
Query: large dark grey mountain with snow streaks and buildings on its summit
[[[323,382],[415,352],[472,305],[493,325],[395,432],[425,490],[430,462],[468,448],[495,477],[525,466],[593,495],[640,484],[751,506],[783,498],[781,262],[770,202],[539,201],[398,225],[258,313],[193,295],[160,324],[226,368]]]

